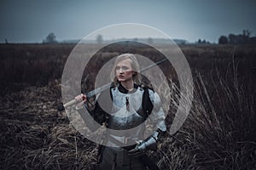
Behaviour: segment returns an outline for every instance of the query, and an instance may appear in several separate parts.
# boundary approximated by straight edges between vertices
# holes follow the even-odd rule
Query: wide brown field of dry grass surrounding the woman
[[[91,45],[95,48],[96,45]],[[0,168],[93,169],[97,145],[70,123],[61,105],[61,74],[74,44],[0,44]],[[164,46],[163,46],[164,48]],[[256,46],[182,45],[195,84],[189,117],[174,135],[148,152],[160,169],[256,168]],[[101,51],[88,70],[123,51]],[[158,60],[150,49],[137,53]],[[170,77],[172,123],[179,104],[177,77]],[[96,73],[84,81],[89,83]],[[172,81],[171,81],[172,80]],[[85,87],[86,88],[86,87]],[[90,89],[91,87],[87,87]]]

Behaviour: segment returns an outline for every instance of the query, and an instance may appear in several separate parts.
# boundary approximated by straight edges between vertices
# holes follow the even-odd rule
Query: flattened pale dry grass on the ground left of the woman
[[[96,144],[57,111],[60,88],[25,88],[1,99],[1,169],[94,167]]]

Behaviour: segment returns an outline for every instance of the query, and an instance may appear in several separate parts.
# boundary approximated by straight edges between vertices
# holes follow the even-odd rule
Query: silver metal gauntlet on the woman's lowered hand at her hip
[[[139,141],[134,149],[128,151],[128,155],[137,157],[142,156],[146,150],[156,150],[158,138],[159,132],[154,132],[147,139]]]

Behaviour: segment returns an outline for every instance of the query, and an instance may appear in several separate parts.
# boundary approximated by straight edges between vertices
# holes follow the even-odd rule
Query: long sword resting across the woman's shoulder
[[[148,65],[148,66],[144,67],[143,69],[140,70],[140,72],[148,71],[148,69],[154,67],[155,65],[160,65],[161,63],[165,62],[166,60],[167,60],[166,58],[165,58],[165,59],[161,59],[161,60],[155,62],[155,63],[152,64],[152,65]],[[94,90],[91,90],[91,91],[88,92],[88,93],[85,93],[85,95],[86,95],[88,98],[90,98],[90,97],[92,97],[92,96],[94,96],[94,95],[96,95],[96,94],[100,94],[100,93],[102,93],[104,90],[110,88],[110,87],[111,87],[111,84],[112,84],[112,82],[109,82],[109,83],[103,85],[102,87],[96,88],[96,89],[94,89]],[[70,100],[69,102],[67,102],[67,103],[64,104],[64,105],[59,105],[59,106],[58,106],[58,111],[63,111],[66,107],[69,107],[69,106],[71,106],[71,105],[75,105],[75,104],[77,104],[77,103],[79,103],[78,100],[72,99],[72,100]]]

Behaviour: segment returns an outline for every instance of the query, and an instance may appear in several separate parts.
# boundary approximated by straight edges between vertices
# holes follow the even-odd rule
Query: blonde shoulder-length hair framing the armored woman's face
[[[136,56],[134,54],[120,54],[114,61],[113,69],[110,74],[111,80],[114,82],[114,86],[117,86],[119,84],[118,79],[116,77],[116,65],[119,64],[120,61],[124,59],[130,59],[131,60],[131,70],[135,72],[135,74],[132,76],[133,82],[137,83],[138,85],[141,83],[141,76],[140,76],[140,66],[137,62]]]

